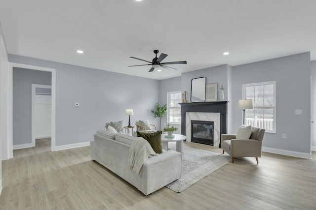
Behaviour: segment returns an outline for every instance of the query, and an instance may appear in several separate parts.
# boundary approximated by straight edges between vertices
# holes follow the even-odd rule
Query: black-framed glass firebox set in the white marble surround
[[[214,145],[214,121],[191,120],[191,142]]]

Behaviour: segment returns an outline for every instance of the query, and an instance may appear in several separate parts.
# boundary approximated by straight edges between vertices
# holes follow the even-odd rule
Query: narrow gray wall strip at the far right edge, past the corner
[[[311,141],[312,141],[312,150],[316,151],[316,60],[311,62],[311,77],[312,77],[312,94],[311,94]]]

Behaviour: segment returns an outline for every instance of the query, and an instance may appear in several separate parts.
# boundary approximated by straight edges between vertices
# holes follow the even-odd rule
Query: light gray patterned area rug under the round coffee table
[[[169,142],[169,149],[176,150],[176,143]],[[175,192],[182,192],[232,160],[231,156],[226,153],[199,150],[185,145],[183,150],[181,178],[166,185]]]

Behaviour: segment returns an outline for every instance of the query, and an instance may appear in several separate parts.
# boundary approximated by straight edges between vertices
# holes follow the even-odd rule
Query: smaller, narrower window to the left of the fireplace
[[[168,92],[168,123],[181,123],[181,91]]]

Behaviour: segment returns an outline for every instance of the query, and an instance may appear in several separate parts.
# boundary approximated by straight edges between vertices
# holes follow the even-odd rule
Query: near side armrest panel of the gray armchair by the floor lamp
[[[262,141],[256,139],[232,139],[232,157],[261,157]]]

